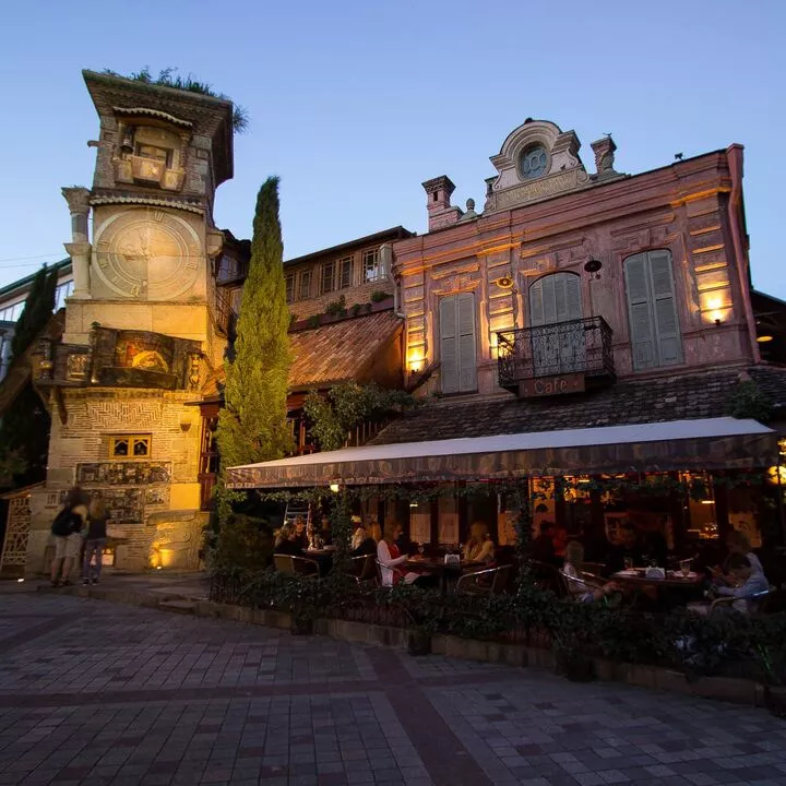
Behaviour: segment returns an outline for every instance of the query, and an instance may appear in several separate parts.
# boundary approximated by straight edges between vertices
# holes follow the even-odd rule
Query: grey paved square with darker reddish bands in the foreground
[[[0,786],[786,784],[761,710],[0,593]]]

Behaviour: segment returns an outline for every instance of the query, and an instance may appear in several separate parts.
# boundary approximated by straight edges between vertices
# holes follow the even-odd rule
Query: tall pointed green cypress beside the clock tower
[[[278,206],[278,178],[269,178],[257,196],[234,358],[225,361],[224,408],[216,434],[222,462],[217,500],[222,522],[230,514],[231,500],[238,498],[224,487],[226,467],[281,458],[291,450],[286,418],[290,317]]]

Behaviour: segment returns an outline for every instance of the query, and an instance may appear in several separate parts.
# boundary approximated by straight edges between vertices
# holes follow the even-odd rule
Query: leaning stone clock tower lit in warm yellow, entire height
[[[74,288],[60,341],[34,382],[51,414],[47,479],[31,493],[27,570],[46,568],[49,529],[73,486],[109,510],[124,570],[195,568],[207,513],[199,474],[202,384],[223,361],[213,223],[233,176],[229,100],[83,72],[100,130],[92,188],[62,190]],[[92,214],[92,231],[91,229]],[[223,306],[223,303],[222,303]]]

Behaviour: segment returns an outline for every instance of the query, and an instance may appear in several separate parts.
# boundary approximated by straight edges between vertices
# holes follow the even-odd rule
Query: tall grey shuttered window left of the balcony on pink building
[[[443,297],[439,320],[442,392],[471,393],[477,390],[475,295]]]

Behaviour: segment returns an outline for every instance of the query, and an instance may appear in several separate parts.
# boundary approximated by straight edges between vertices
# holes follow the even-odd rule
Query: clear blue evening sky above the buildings
[[[172,66],[251,115],[216,223],[248,237],[276,174],[288,258],[424,231],[437,175],[483,205],[488,157],[536,117],[588,166],[612,132],[627,172],[742,143],[754,284],[786,298],[784,0],[80,0],[11,3],[2,27],[0,284],[64,255],[60,187],[90,186],[98,128],[81,69]]]

